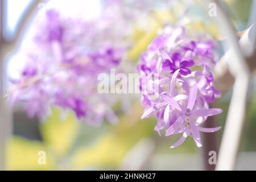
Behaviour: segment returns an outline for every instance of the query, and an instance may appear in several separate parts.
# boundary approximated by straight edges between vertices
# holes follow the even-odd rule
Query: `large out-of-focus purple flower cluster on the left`
[[[97,76],[117,68],[129,41],[129,26],[117,3],[109,2],[99,18],[67,18],[55,9],[35,21],[32,48],[19,78],[11,78],[10,99],[29,117],[43,120],[50,106],[71,109],[94,125],[116,122],[114,100],[97,93]],[[112,11],[112,14],[109,13]]]

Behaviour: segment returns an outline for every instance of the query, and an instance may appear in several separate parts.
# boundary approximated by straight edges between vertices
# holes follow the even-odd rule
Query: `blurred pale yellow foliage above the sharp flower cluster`
[[[232,2],[229,2],[232,3]],[[249,5],[249,3],[246,3]],[[200,4],[191,5],[191,7],[185,7],[184,3],[179,4],[178,7],[168,10],[156,10],[151,11],[151,19],[148,24],[151,24],[150,30],[143,30],[135,24],[134,32],[131,36],[135,40],[135,45],[129,53],[127,53],[128,60],[138,60],[142,52],[146,51],[148,44],[157,35],[159,28],[163,27],[166,23],[175,23],[179,20],[180,13],[184,13],[184,8],[187,8],[187,14],[191,16],[191,19],[184,21],[184,26],[192,34],[196,34],[199,31],[209,32],[214,39],[222,39],[218,24],[214,22],[214,19],[209,16],[205,16],[205,10],[200,6]]]

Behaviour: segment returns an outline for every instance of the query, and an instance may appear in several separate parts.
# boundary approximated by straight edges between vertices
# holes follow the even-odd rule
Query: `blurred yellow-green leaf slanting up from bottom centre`
[[[118,167],[122,159],[139,139],[154,133],[154,122],[141,121],[143,107],[135,103],[123,116],[111,134],[105,134],[91,146],[76,150],[71,158],[71,169]]]

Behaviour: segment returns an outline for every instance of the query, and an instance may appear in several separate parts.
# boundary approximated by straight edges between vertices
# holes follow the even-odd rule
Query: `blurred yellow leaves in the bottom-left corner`
[[[53,108],[52,115],[40,123],[42,142],[22,137],[14,137],[8,142],[7,169],[55,169],[70,150],[77,131],[75,114],[69,111],[63,116],[59,109]],[[46,165],[38,163],[39,151],[46,152]]]

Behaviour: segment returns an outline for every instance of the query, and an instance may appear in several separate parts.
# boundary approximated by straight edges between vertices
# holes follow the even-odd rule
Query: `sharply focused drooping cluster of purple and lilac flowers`
[[[182,134],[171,148],[188,136],[201,147],[199,131],[220,129],[200,127],[209,116],[222,112],[209,108],[209,103],[220,97],[210,71],[216,61],[209,35],[191,36],[184,27],[166,26],[142,54],[138,65],[142,105],[146,107],[142,118],[154,114],[159,135],[161,130],[166,136]]]

